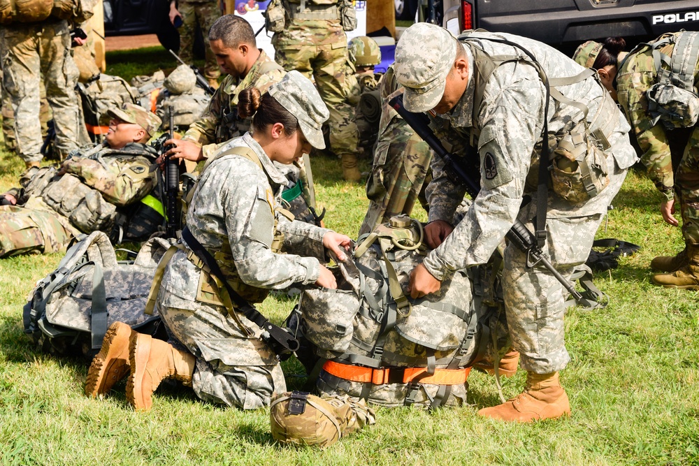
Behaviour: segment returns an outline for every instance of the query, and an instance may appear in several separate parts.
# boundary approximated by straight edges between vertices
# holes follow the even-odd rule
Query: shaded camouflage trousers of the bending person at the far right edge
[[[682,235],[699,245],[699,127],[695,127],[675,172],[675,203],[682,214]],[[677,208],[677,205],[675,206]]]

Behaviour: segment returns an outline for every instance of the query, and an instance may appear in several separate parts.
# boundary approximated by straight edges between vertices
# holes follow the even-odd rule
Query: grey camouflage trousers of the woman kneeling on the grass
[[[158,303],[168,293],[161,286]],[[173,302],[173,297],[168,297]],[[196,310],[159,306],[168,334],[196,357],[192,376],[194,393],[208,402],[242,409],[269,406],[287,391],[282,367],[273,351],[259,339],[261,330],[240,316],[253,330],[248,337],[224,307],[183,303]]]

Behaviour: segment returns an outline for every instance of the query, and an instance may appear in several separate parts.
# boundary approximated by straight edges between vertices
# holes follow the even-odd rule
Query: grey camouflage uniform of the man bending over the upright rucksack
[[[418,26],[416,24],[414,27]],[[493,35],[474,33],[473,39],[463,44],[469,71],[477,66],[471,47],[482,48],[490,56],[521,55],[518,48],[479,39],[489,36]],[[498,36],[521,44],[532,52],[549,79],[575,76],[584,71],[582,66],[548,45],[510,34]],[[422,90],[411,79],[415,79],[413,76],[416,74],[430,71],[422,71],[422,68],[412,71],[411,67],[416,62],[435,61],[439,54],[436,51],[433,53],[431,48],[438,50],[444,48],[445,43],[453,41],[440,36],[441,43],[438,43],[436,39],[425,35],[419,46],[415,41],[413,48],[410,46],[413,43],[403,47],[398,43],[394,65],[396,78],[406,89],[420,87],[419,90]],[[401,48],[403,50],[399,51]],[[431,58],[433,55],[435,58]],[[455,57],[455,52],[452,57]],[[451,61],[446,59],[445,63],[436,65],[440,68],[435,69],[445,70],[441,82],[444,82],[449,64],[453,61],[454,58]],[[476,112],[473,108],[474,75],[477,75],[476,71],[468,73],[466,91],[450,112],[431,117],[435,133],[447,147],[451,145],[456,156],[466,154],[471,136],[476,138],[475,145],[480,156],[480,193],[470,205],[466,217],[442,245],[424,259],[423,264],[428,272],[438,280],[447,279],[456,270],[486,263],[505,238],[514,219],[521,220],[532,230],[532,220],[537,213],[536,183],[532,188],[528,182],[531,180],[527,179],[538,171],[538,168],[532,169],[533,165],[538,166],[538,163],[532,163],[532,154],[539,154],[535,152],[535,143],[540,139],[544,119],[546,94],[538,72],[533,66],[519,62],[498,66],[484,83],[482,103]],[[568,99],[584,103],[589,108],[590,118],[596,114],[605,94],[594,78],[586,78],[559,89]],[[426,99],[424,94],[419,95],[414,91],[410,95],[406,91],[405,97],[408,110],[416,109],[415,101]],[[549,133],[568,132],[581,117],[582,112],[577,108],[552,100],[548,111]],[[480,136],[474,128],[480,129]],[[573,205],[549,190],[545,252],[564,277],[570,275],[575,265],[587,259],[607,205],[621,187],[626,169],[635,162],[635,152],[626,134],[628,130],[626,120],[619,117],[614,130],[607,136],[611,144],[611,148],[605,152],[610,184],[598,196]],[[449,180],[441,159],[433,159],[432,170],[434,179],[427,187],[429,219],[450,222],[465,189]],[[531,202],[522,207],[524,195],[531,196]],[[545,269],[527,268],[526,254],[508,244],[504,254],[503,292],[507,323],[513,347],[521,354],[521,367],[530,374],[550,374],[562,370],[570,360],[564,343],[563,314],[567,293],[563,286]]]

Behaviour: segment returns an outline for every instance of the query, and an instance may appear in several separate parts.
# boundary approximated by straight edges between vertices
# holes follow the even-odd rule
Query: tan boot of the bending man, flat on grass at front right
[[[479,416],[503,421],[533,422],[570,416],[570,403],[559,382],[559,373],[527,373],[524,391],[502,405],[481,409]]]

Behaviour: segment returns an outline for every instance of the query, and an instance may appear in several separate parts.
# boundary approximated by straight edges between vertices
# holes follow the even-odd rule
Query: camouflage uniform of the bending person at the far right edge
[[[675,44],[669,44],[659,51],[672,57],[674,49]],[[661,122],[651,123],[645,93],[655,84],[657,75],[650,48],[628,55],[617,74],[619,105],[633,126],[643,152],[641,161],[656,188],[668,201],[677,196],[684,239],[691,245],[699,245],[699,127],[689,129],[691,135],[687,140],[687,130],[670,131]],[[695,68],[694,88],[699,88],[699,63]],[[682,138],[686,145],[673,145],[672,149],[676,150],[671,150],[675,138]]]

